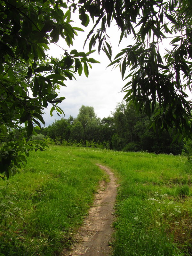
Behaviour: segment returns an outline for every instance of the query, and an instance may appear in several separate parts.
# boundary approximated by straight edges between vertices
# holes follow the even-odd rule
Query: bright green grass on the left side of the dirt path
[[[70,246],[102,177],[97,166],[68,148],[32,154],[24,170],[0,182],[7,207],[0,212],[1,255],[57,255]]]

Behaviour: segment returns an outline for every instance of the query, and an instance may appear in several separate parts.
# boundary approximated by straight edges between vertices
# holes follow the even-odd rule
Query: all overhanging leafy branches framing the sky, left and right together
[[[33,142],[34,126],[44,124],[44,108],[63,110],[58,104],[64,81],[75,74],[88,76],[89,56],[98,46],[111,63],[119,66],[125,85],[124,99],[138,110],[153,115],[153,127],[174,129],[191,138],[192,8],[190,0],[2,0],[0,2],[0,172],[7,178],[15,166],[26,161],[30,150],[43,150],[42,142]],[[71,26],[71,12],[78,12],[82,26],[94,25],[87,36],[89,52],[68,52],[62,47],[60,59],[47,55],[49,44],[62,37],[73,45],[77,31]],[[119,42],[129,35],[133,43],[112,59],[112,45],[107,36],[111,21],[121,30]],[[169,38],[166,53],[160,49]],[[158,103],[158,104],[157,104]],[[25,130],[20,125],[24,124]],[[14,129],[20,129],[15,140]]]

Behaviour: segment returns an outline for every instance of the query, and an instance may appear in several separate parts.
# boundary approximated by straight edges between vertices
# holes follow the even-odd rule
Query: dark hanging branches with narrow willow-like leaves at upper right
[[[79,12],[86,10],[96,17],[87,36],[89,49],[98,42],[111,65],[120,67],[126,80],[124,99],[133,102],[137,110],[150,117],[153,127],[171,127],[176,139],[179,135],[192,138],[192,101],[187,100],[186,88],[191,92],[192,70],[192,8],[188,0],[79,0]],[[119,42],[129,35],[134,42],[122,49],[112,61],[112,47],[107,27],[111,20],[121,30]],[[100,26],[98,28],[98,26]],[[160,51],[165,39],[170,49]],[[158,104],[157,104],[158,103]]]

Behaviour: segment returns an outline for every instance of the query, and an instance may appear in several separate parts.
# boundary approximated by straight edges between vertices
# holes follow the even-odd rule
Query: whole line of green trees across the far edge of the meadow
[[[36,130],[33,139],[49,139],[57,145],[108,148],[119,151],[148,151],[181,154],[184,141],[173,142],[171,129],[160,132],[150,127],[151,120],[133,105],[118,103],[112,116],[97,117],[94,108],[82,105],[76,118],[55,120],[51,125]],[[189,146],[189,145],[188,145]]]

